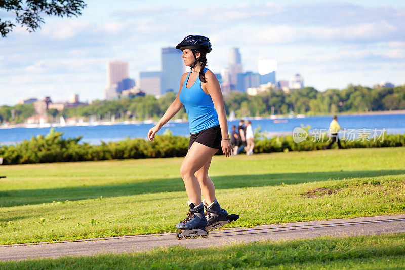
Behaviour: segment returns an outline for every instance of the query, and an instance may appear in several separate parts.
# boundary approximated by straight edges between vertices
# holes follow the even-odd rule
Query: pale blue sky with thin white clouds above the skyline
[[[45,96],[65,101],[72,94],[103,99],[107,61],[129,62],[137,80],[140,71],[161,69],[161,48],[189,34],[210,38],[207,67],[214,73],[236,47],[244,71],[276,59],[276,80],[299,73],[304,86],[319,91],[405,84],[404,1],[85,2],[82,16],[44,15],[36,32],[17,26],[0,37],[0,105]],[[0,18],[10,14],[0,10]]]

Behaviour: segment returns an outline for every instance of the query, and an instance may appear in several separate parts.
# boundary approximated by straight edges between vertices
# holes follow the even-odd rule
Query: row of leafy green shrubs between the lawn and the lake
[[[0,157],[3,157],[3,164],[184,157],[189,141],[186,137],[172,136],[167,132],[156,135],[153,142],[127,138],[119,142],[90,145],[79,143],[81,136],[63,139],[62,134],[51,129],[46,136],[38,135],[16,145],[1,146]],[[260,134],[260,130],[257,130],[257,134]],[[322,149],[327,143],[317,141],[313,136],[300,143],[295,143],[292,136],[258,136],[255,153],[312,151]],[[383,141],[341,140],[341,143],[343,148],[402,147],[405,146],[405,134],[385,134]],[[217,155],[221,155],[221,150]]]

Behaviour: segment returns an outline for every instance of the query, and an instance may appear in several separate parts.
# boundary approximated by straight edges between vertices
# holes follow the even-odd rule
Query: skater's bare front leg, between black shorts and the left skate
[[[201,202],[201,188],[195,172],[211,160],[217,151],[218,149],[194,142],[180,166],[180,175],[184,181],[188,199],[195,205]]]

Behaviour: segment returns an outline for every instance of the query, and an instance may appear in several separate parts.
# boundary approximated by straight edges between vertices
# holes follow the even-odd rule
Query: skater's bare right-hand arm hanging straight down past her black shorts
[[[229,141],[228,122],[226,120],[224,98],[222,96],[221,87],[217,77],[210,70],[206,71],[205,77],[207,83],[201,83],[201,87],[203,87],[203,89],[205,89],[211,95],[215,110],[218,114],[219,126],[221,127],[222,151],[226,157],[229,157],[232,153],[232,145]]]

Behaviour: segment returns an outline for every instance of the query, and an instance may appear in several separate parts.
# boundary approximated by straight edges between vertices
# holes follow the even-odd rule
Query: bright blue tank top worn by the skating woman
[[[204,74],[207,70],[208,68],[204,68]],[[201,80],[199,79],[199,76],[194,84],[190,88],[187,88],[190,74],[191,72],[183,83],[179,98],[188,115],[188,127],[190,128],[190,133],[194,134],[201,130],[218,126],[219,120],[211,95],[206,94],[203,91],[203,88],[201,88]]]

